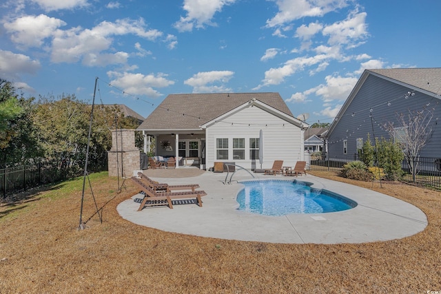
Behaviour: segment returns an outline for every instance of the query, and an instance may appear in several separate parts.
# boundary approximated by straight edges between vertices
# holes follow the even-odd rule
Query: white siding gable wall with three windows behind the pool
[[[207,127],[206,168],[223,161],[235,162],[246,169],[260,169],[259,160],[249,159],[249,138],[259,138],[260,129],[263,130],[263,169],[271,168],[274,160],[283,160],[283,165],[290,167],[302,160],[303,131],[300,127],[254,106]],[[216,138],[228,138],[228,160],[216,159]],[[245,160],[233,159],[233,138],[245,138]]]

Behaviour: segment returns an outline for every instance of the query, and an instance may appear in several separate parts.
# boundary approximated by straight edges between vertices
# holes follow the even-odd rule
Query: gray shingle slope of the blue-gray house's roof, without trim
[[[368,71],[413,85],[434,94],[440,94],[441,91],[441,67],[390,68]]]

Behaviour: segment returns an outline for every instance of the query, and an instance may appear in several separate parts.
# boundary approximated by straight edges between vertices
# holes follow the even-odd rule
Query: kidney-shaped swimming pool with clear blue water
[[[241,182],[245,187],[237,195],[239,210],[266,216],[290,213],[328,213],[344,211],[357,202],[327,190],[311,188],[308,182],[256,180]]]

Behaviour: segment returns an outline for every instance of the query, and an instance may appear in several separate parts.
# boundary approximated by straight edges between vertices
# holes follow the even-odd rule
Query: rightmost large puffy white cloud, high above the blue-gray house
[[[325,26],[322,34],[329,36],[329,45],[347,44],[350,48],[356,47],[356,42],[368,36],[366,16],[366,12],[351,12],[344,21]]]

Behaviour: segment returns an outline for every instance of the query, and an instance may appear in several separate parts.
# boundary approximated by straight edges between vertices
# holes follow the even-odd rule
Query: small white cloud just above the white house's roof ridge
[[[184,81],[185,85],[193,87],[194,93],[203,92],[232,92],[230,88],[224,87],[224,83],[227,83],[234,75],[234,72],[228,70],[212,71],[212,72],[198,72],[191,78]],[[212,83],[220,83],[222,85],[207,85]]]

